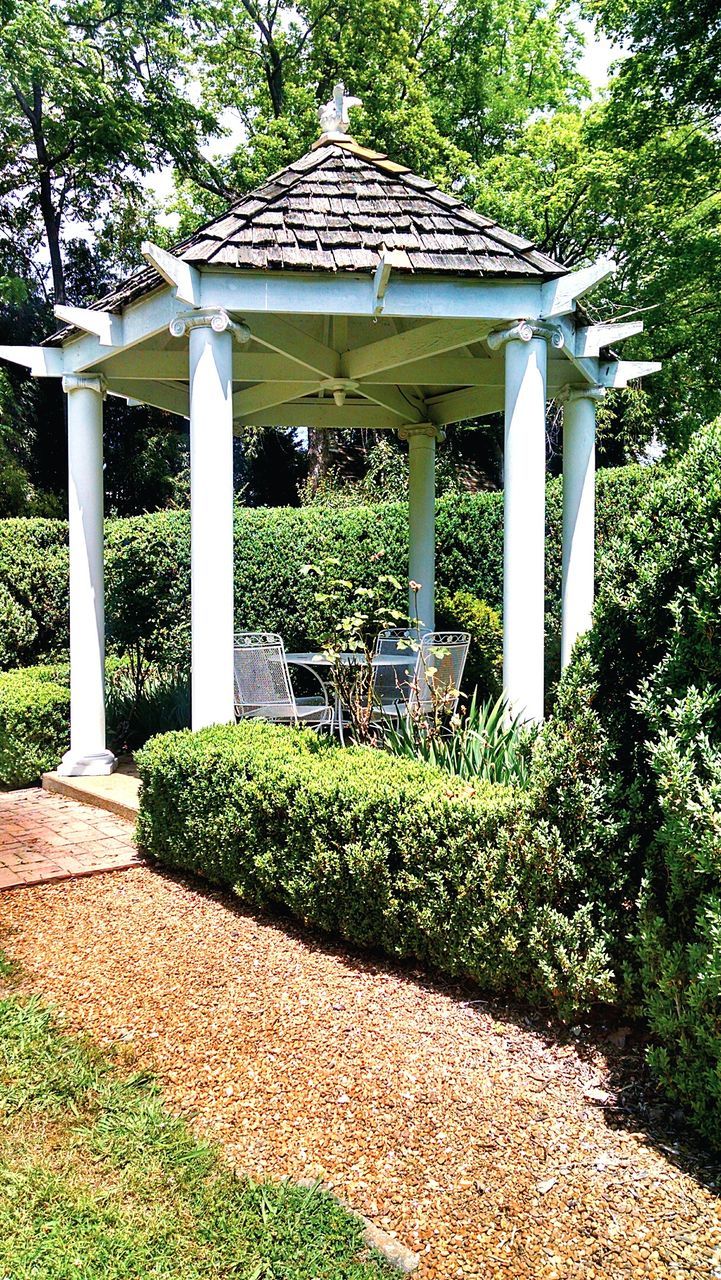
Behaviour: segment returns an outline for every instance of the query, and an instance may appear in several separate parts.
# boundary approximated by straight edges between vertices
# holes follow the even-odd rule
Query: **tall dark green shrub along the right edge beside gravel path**
[[[661,468],[607,548],[594,627],[534,754],[530,799],[603,911],[652,1061],[718,1143],[721,422]]]

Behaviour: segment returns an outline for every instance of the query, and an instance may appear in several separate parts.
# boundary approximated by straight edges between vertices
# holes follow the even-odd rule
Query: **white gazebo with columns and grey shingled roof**
[[[351,100],[352,105],[352,100]],[[190,419],[193,728],[233,719],[233,433],[370,428],[409,442],[410,579],[434,618],[434,465],[443,428],[505,412],[503,682],[543,716],[546,406],[563,401],[562,662],[593,607],[595,403],[657,364],[617,360],[638,320],[579,300],[613,262],[569,273],[433,183],[357,146],[348,100],[301,160],[41,347],[0,356],[68,397],[70,748],[60,773],[114,768],[105,745],[102,402]]]

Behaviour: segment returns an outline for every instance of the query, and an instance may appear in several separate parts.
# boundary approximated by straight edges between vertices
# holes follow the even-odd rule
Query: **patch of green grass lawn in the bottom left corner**
[[[388,1280],[316,1188],[234,1176],[158,1087],[0,1000],[3,1280]]]

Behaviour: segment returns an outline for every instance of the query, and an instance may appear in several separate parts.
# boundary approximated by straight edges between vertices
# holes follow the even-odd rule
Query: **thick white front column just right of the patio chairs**
[[[503,689],[514,714],[543,719],[547,338],[525,321],[492,334],[505,346]]]

